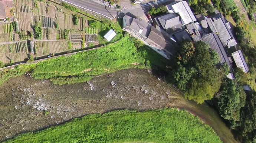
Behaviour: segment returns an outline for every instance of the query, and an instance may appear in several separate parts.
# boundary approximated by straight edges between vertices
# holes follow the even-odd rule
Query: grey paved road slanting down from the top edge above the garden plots
[[[108,7],[95,3],[91,0],[65,0],[65,1],[87,8],[89,10],[96,11],[98,13],[104,14],[111,18],[115,18],[115,16],[117,15],[116,10],[111,10]]]

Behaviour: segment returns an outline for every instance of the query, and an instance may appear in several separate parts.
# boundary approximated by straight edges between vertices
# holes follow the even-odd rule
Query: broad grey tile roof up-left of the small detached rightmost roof
[[[214,21],[214,25],[217,28],[220,41],[223,46],[227,46],[227,42],[232,39],[233,35],[227,25],[224,22],[224,18],[219,18]]]

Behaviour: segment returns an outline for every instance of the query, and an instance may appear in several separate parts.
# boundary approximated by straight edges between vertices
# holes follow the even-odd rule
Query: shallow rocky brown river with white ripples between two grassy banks
[[[0,91],[0,141],[92,113],[177,107],[210,125],[224,143],[236,143],[214,109],[186,100],[150,70],[121,70],[62,86],[23,75],[4,82]]]

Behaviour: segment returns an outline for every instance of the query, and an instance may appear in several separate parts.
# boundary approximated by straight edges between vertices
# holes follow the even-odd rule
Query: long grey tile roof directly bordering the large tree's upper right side
[[[220,57],[220,63],[227,63],[230,65],[229,59],[227,57],[227,53],[225,52],[219,37],[216,34],[210,33],[202,37],[203,42],[207,43],[211,49],[216,51]]]

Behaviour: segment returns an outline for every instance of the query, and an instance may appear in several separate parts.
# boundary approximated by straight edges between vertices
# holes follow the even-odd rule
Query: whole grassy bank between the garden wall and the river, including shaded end
[[[151,64],[164,67],[166,64],[163,63],[167,62],[167,59],[145,46],[137,52],[137,48],[127,35],[119,42],[104,48],[3,71],[0,73],[0,84],[26,71],[30,71],[35,79],[49,79],[55,84],[71,84],[88,81],[99,74],[132,67],[150,68]]]

